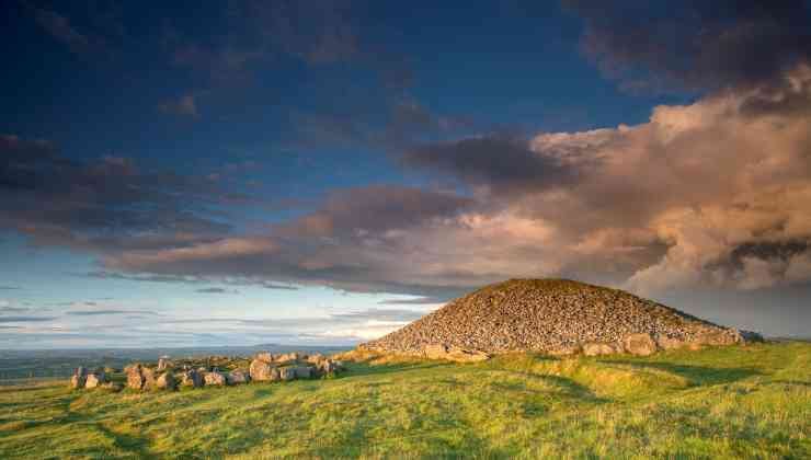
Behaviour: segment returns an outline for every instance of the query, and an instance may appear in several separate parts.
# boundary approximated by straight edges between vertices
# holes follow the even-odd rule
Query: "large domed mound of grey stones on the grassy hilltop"
[[[514,350],[646,355],[743,340],[736,330],[622,290],[566,279],[511,279],[456,299],[361,348],[477,360]]]

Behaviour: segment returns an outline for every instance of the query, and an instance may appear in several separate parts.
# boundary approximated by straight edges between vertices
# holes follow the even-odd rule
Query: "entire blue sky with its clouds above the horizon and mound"
[[[0,3],[0,348],[349,346],[517,277],[810,335],[811,2],[164,3]]]

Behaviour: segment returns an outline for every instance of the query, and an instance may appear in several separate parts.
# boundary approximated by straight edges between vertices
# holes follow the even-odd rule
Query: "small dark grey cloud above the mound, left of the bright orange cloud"
[[[551,188],[576,179],[576,169],[542,153],[533,151],[527,139],[487,135],[423,145],[407,151],[403,162],[501,193]]]

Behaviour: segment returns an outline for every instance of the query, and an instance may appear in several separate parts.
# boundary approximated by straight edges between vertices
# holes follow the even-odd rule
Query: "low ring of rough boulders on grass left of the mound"
[[[247,369],[237,367],[226,371],[220,370],[217,365],[212,365],[212,363],[216,363],[229,366],[237,360],[241,359],[212,356],[205,358],[205,363],[209,366],[197,368],[194,368],[193,363],[199,364],[199,359],[192,364],[175,365],[168,357],[161,357],[156,367],[135,363],[124,368],[125,384],[126,388],[137,391],[229,387],[245,384],[251,381],[282,382],[312,379],[335,375],[344,369],[341,361],[321,354],[287,353],[273,355],[267,352],[258,353],[251,359]],[[83,367],[79,367],[70,379],[70,388],[106,388],[118,391],[123,387],[118,382],[108,381],[108,376],[103,370],[88,372]]]

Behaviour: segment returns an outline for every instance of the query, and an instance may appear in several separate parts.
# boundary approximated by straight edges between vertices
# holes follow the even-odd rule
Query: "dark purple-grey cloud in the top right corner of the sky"
[[[585,21],[583,47],[633,88],[755,87],[811,57],[811,9],[803,0],[567,0]]]

